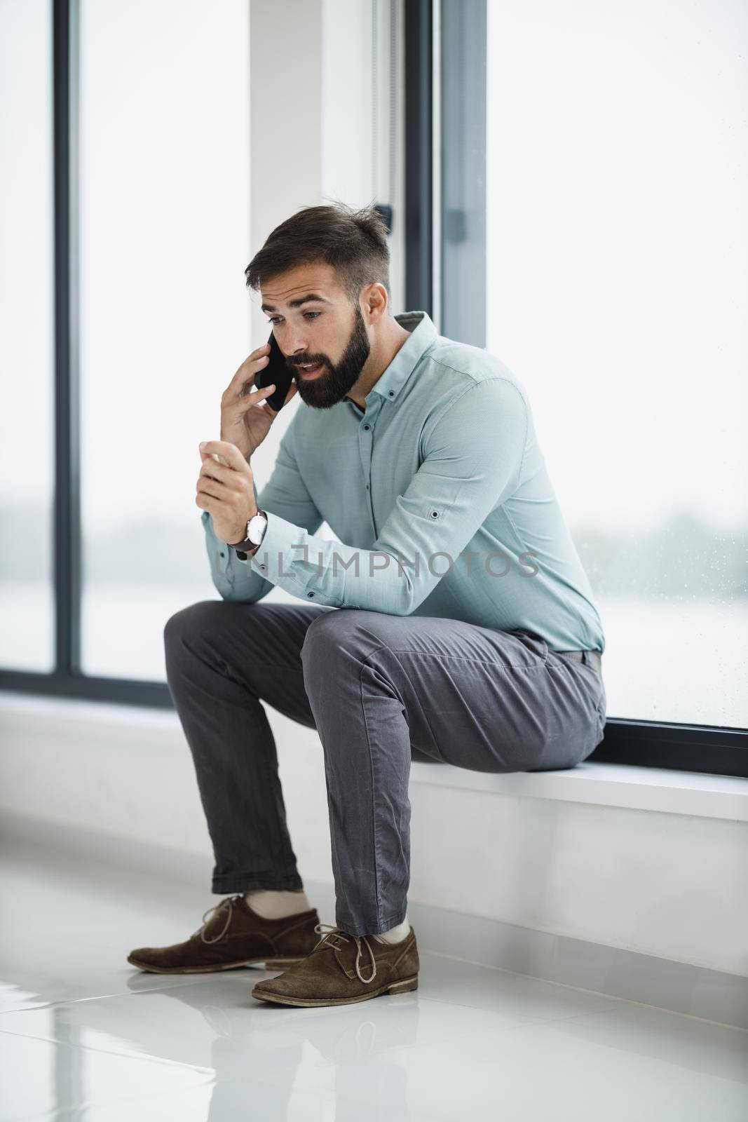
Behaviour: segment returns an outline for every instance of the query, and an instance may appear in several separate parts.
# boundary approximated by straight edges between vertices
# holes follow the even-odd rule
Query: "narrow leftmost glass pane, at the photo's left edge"
[[[0,4],[0,664],[49,672],[54,477],[52,10]]]

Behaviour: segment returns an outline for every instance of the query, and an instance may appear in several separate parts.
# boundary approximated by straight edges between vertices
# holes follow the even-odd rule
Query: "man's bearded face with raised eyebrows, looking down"
[[[299,265],[261,289],[278,347],[307,405],[329,410],[358,381],[370,343],[361,309],[324,263]],[[308,374],[303,369],[311,366]]]

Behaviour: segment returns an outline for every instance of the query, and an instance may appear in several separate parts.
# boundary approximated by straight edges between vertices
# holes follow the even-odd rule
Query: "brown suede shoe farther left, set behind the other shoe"
[[[256,963],[265,963],[268,971],[283,969],[303,962],[315,946],[318,921],[316,908],[265,919],[252,911],[243,895],[227,896],[203,913],[203,926],[186,942],[138,947],[127,960],[153,974],[206,974]]]

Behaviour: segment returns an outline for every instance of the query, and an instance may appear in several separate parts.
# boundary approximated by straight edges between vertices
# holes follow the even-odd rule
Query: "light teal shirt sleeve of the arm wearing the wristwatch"
[[[517,488],[527,430],[527,405],[512,381],[473,383],[426,426],[423,462],[371,550],[315,537],[288,517],[288,506],[268,503],[268,527],[247,568],[310,603],[409,615],[447,571],[438,554],[456,561]]]

